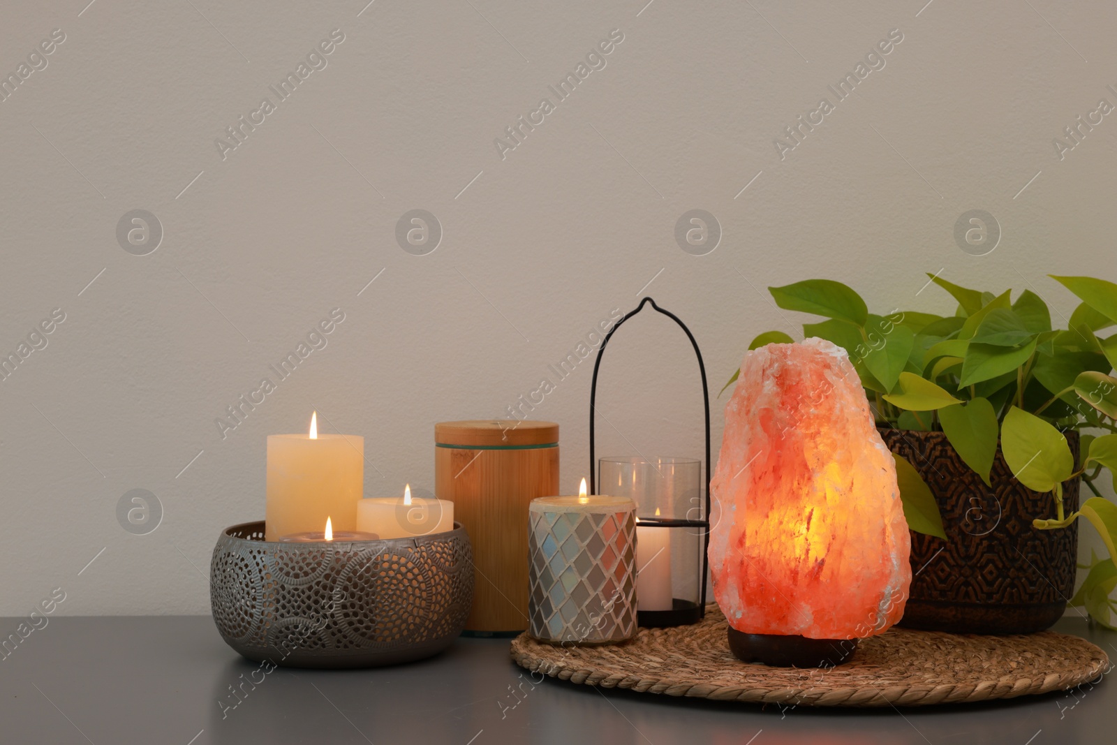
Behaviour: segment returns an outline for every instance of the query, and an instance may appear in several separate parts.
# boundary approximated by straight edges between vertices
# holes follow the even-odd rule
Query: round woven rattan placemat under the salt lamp
[[[512,657],[561,680],[650,694],[799,706],[928,706],[1013,698],[1097,680],[1109,658],[1054,631],[990,637],[892,628],[836,668],[773,668],[729,652],[716,604],[705,620],[640,629],[623,644],[558,647],[521,634]]]

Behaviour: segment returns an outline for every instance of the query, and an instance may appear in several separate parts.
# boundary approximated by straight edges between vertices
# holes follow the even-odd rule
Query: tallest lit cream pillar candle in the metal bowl
[[[269,434],[265,539],[316,531],[327,517],[354,531],[363,490],[363,437],[318,434],[317,413],[308,434]]]

